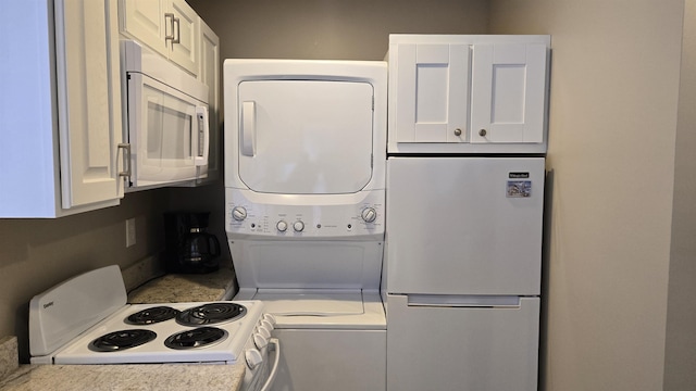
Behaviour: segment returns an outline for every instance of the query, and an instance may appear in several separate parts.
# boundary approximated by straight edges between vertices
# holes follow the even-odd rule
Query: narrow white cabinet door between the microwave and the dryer
[[[210,117],[210,151],[208,178],[215,179],[220,172],[220,39],[202,21],[200,23],[200,73],[198,78],[208,86],[208,113]],[[206,167],[201,167],[206,169]],[[200,173],[204,174],[204,173]]]

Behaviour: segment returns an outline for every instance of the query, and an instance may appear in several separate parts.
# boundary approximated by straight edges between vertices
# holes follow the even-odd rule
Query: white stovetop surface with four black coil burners
[[[126,305],[55,352],[53,363],[232,364],[268,321],[262,307],[258,301]]]

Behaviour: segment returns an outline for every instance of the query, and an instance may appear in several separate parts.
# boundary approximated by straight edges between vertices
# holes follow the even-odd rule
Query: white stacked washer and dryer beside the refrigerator
[[[274,391],[384,390],[387,65],[226,60],[225,225],[283,344]]]

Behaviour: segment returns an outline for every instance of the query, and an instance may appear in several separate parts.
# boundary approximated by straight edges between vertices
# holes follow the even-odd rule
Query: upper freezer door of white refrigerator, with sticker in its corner
[[[536,295],[543,157],[389,157],[387,291]]]

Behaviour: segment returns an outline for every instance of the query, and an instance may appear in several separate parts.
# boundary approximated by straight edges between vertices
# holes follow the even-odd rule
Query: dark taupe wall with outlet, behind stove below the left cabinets
[[[28,360],[28,303],[37,293],[101,266],[123,269],[158,254],[167,190],[126,194],[119,206],[55,219],[0,218],[0,337],[17,336]],[[126,249],[125,220],[136,220],[136,244]]]

